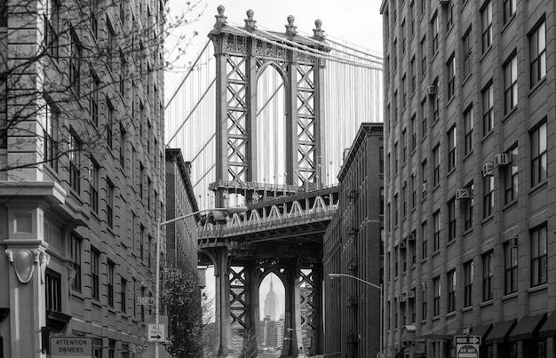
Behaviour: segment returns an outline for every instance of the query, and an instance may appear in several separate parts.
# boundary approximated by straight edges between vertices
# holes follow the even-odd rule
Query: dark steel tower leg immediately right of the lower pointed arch
[[[286,315],[284,317],[284,346],[281,357],[297,357],[303,346],[300,319],[299,267],[297,259],[289,259],[286,265]]]

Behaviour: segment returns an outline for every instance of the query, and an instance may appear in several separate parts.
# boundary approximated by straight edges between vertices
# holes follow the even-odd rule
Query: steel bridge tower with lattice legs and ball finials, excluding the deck
[[[216,180],[210,184],[215,205],[256,204],[297,193],[299,187],[319,188],[327,163],[322,150],[322,54],[330,51],[321,21],[315,21],[314,36],[306,37],[298,35],[292,16],[287,19],[285,32],[277,33],[258,29],[251,10],[244,28],[229,26],[224,12],[224,6],[218,6],[216,23],[209,34],[216,57],[217,163]],[[266,71],[278,75],[277,83],[266,76]],[[269,89],[270,93],[263,96]],[[276,97],[277,93],[281,95]],[[280,107],[279,115],[273,116],[272,111],[265,115],[273,100],[277,100],[273,106]],[[297,357],[300,345],[311,346],[313,354],[319,353],[319,251],[280,256],[270,248],[246,259],[234,256],[233,249],[226,243],[203,250],[215,264],[218,357],[230,352],[232,330],[248,332],[260,347],[258,287],[271,272],[280,277],[286,291],[287,339],[282,356]],[[302,331],[308,333],[304,338],[308,342],[300,337]]]

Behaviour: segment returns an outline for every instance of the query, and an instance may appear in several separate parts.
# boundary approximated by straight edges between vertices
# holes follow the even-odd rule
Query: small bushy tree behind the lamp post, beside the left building
[[[196,270],[163,267],[161,302],[170,325],[167,350],[175,358],[203,357],[203,310]]]

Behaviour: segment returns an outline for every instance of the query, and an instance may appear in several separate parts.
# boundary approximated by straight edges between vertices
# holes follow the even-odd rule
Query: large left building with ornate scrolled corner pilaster
[[[108,6],[109,5],[109,6]],[[138,356],[164,218],[163,2],[7,1],[0,357]],[[91,340],[89,340],[91,338]],[[135,354],[135,355],[134,355]]]

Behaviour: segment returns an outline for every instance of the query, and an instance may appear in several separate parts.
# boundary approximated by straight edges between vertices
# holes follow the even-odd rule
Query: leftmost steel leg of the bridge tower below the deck
[[[218,358],[226,358],[232,343],[230,327],[230,282],[228,280],[229,267],[227,262],[227,248],[219,248],[214,253],[216,262],[214,275],[216,276],[216,337],[215,349]]]

